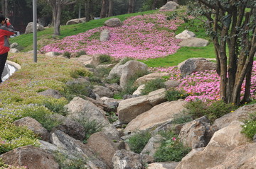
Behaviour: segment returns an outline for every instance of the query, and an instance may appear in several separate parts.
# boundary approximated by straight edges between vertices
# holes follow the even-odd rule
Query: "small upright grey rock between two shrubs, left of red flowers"
[[[141,154],[147,154],[154,158],[154,153],[160,148],[161,141],[164,141],[165,138],[161,136],[160,134],[157,134],[156,136],[152,136],[151,139],[149,139],[146,146],[143,148]]]

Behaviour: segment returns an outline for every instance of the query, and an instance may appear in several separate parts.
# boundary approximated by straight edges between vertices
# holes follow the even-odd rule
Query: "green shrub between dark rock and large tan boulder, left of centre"
[[[87,139],[89,139],[90,135],[96,132],[100,132],[104,127],[102,124],[97,123],[95,120],[88,120],[88,119],[82,118],[76,121],[82,124],[82,126],[85,129],[85,140],[83,141],[84,143],[87,143]]]

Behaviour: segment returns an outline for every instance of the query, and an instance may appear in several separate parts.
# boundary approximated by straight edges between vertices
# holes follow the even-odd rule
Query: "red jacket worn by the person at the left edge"
[[[6,25],[0,24],[0,54],[4,54],[9,52],[9,36],[14,35],[14,27],[11,23],[7,23]]]

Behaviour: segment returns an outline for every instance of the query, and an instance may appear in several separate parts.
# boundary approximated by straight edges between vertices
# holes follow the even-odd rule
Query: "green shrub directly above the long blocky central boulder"
[[[148,81],[145,84],[145,87],[142,89],[142,95],[147,95],[151,91],[156,91],[157,89],[165,88],[165,87],[166,86],[164,84],[164,79],[161,79],[161,78],[153,79],[151,81]]]

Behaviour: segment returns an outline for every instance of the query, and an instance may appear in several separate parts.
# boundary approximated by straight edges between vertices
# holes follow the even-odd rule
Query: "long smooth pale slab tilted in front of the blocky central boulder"
[[[174,115],[181,113],[185,110],[183,105],[184,100],[176,100],[171,102],[161,103],[154,106],[151,110],[138,115],[134,120],[129,122],[124,129],[124,133],[135,132],[136,130],[146,130],[160,126],[166,122],[174,119]],[[133,112],[131,110],[131,112]]]

